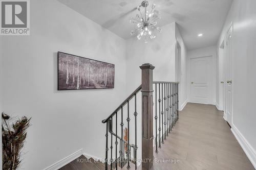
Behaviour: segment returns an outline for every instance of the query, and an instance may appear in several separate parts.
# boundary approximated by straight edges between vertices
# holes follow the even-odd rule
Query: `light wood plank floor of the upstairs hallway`
[[[214,105],[188,103],[155,157],[180,162],[155,163],[154,169],[254,169]]]

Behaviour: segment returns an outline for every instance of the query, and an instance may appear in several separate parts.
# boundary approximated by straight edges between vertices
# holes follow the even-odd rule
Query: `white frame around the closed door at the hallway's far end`
[[[214,84],[216,83],[215,82],[215,74],[214,74],[214,71],[215,71],[215,64],[214,64],[214,61],[215,61],[215,57],[213,55],[207,55],[207,56],[201,56],[201,57],[190,57],[189,58],[189,75],[188,75],[188,89],[189,89],[189,103],[198,103],[198,102],[193,102],[191,101],[191,60],[192,59],[198,59],[198,58],[205,58],[205,57],[210,57],[210,64],[211,64],[211,69],[212,69],[212,80],[211,80],[211,84],[210,84],[210,91],[211,91],[211,99],[210,99],[210,102],[208,103],[209,105],[214,105],[214,93],[215,93],[215,90],[214,88],[216,87]],[[199,103],[199,104],[205,104],[205,103]]]

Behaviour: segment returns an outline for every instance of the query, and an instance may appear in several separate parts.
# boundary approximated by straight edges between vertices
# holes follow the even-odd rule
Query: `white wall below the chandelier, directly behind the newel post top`
[[[127,91],[132,93],[141,83],[140,65],[155,66],[154,81],[175,81],[175,22],[162,28],[162,33],[148,43],[135,37],[126,41]]]

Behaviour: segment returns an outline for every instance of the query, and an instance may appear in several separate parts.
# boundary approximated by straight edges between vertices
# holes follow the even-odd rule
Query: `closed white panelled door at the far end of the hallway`
[[[212,104],[212,56],[190,59],[190,102]]]

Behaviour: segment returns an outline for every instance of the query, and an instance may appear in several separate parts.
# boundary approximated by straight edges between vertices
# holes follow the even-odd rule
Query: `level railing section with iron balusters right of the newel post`
[[[161,143],[164,143],[179,119],[179,83],[153,82],[153,84],[155,86],[155,152],[158,153]]]

